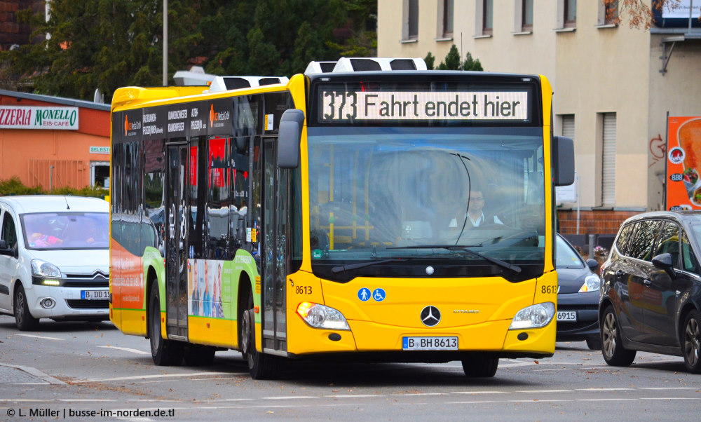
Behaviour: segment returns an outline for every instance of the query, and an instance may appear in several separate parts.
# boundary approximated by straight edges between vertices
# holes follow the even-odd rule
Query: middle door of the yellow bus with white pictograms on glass
[[[188,148],[168,145],[165,193],[165,313],[168,337],[187,339],[186,177]]]

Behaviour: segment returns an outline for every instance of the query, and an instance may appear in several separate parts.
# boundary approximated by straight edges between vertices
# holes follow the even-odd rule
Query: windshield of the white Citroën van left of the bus
[[[28,249],[107,249],[107,212],[39,212],[21,215]]]

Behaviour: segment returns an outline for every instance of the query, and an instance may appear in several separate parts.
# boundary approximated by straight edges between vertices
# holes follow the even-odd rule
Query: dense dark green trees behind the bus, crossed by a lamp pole
[[[290,76],[311,60],[374,56],[376,14],[374,0],[169,0],[168,74],[201,64]],[[2,86],[83,100],[100,88],[109,100],[120,86],[162,83],[163,0],[52,0],[48,22],[20,15],[50,38],[0,52]]]

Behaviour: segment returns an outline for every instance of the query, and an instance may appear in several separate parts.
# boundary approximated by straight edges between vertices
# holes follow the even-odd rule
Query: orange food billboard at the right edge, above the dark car
[[[701,210],[701,116],[669,117],[667,210]]]

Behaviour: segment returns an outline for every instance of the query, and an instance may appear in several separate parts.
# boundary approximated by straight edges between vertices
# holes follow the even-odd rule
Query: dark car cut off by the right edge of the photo
[[[681,355],[701,373],[701,212],[627,219],[601,267],[604,360],[628,366],[637,350]]]

